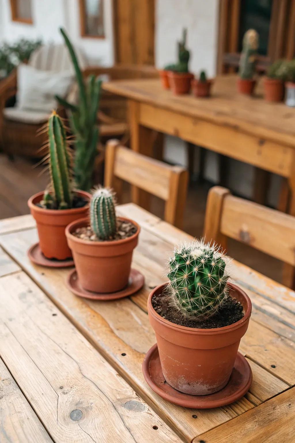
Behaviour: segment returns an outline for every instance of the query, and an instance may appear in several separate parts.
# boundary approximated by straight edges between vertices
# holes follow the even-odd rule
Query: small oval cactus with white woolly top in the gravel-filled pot
[[[96,237],[101,240],[115,236],[115,202],[110,189],[100,187],[93,192],[90,202],[90,225]]]

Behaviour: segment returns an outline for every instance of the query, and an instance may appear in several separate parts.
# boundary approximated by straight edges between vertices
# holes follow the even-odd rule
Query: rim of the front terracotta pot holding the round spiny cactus
[[[221,328],[189,328],[188,326],[181,326],[181,325],[176,325],[176,323],[172,323],[169,322],[169,320],[163,319],[163,317],[161,317],[161,315],[159,315],[153,308],[153,304],[152,304],[152,298],[153,295],[155,294],[155,292],[160,289],[161,287],[164,289],[165,286],[167,286],[169,282],[160,284],[159,286],[157,286],[156,288],[153,289],[153,291],[151,291],[151,293],[149,294],[149,298],[148,298],[148,311],[151,315],[153,315],[153,317],[160,323],[164,324],[165,326],[167,326],[168,328],[171,329],[176,329],[176,330],[181,330],[184,333],[187,334],[196,334],[196,335],[205,335],[205,334],[224,334],[226,332],[228,332],[229,330],[234,330],[239,328],[243,323],[245,323],[250,315],[251,315],[251,310],[252,310],[252,303],[251,300],[249,299],[248,295],[245,293],[245,291],[243,291],[241,288],[239,288],[237,285],[235,285],[234,283],[230,283],[227,282],[227,286],[229,286],[230,288],[232,288],[234,291],[236,291],[238,289],[238,291],[240,291],[241,295],[244,297],[245,301],[246,301],[246,305],[247,305],[247,309],[244,312],[244,317],[240,320],[238,320],[238,322],[232,323],[231,325],[228,326],[222,326]]]

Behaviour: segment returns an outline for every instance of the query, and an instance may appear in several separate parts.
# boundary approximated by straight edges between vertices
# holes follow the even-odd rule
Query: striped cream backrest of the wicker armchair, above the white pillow
[[[85,58],[78,48],[75,52],[81,70],[87,66]],[[29,65],[42,71],[74,71],[68,48],[65,45],[42,45],[31,54]]]

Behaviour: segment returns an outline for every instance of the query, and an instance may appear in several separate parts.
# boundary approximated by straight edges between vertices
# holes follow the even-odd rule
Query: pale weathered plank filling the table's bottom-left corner
[[[1,359],[0,442],[52,443],[50,436]]]

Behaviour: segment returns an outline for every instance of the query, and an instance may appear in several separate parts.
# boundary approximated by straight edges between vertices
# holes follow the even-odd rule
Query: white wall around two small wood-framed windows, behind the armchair
[[[9,0],[0,0],[0,40],[42,37],[45,43],[61,43],[59,27],[65,27],[73,44],[82,48],[90,64],[111,66],[114,59],[111,0],[105,0],[105,39],[80,36],[77,0],[32,0],[33,24],[13,22]]]

